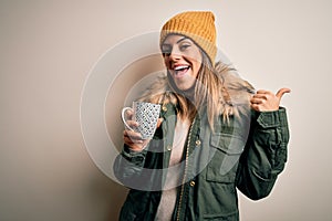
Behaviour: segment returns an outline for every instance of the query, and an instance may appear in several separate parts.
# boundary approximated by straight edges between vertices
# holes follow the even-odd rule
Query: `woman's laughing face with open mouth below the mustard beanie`
[[[194,87],[201,66],[199,48],[187,36],[172,34],[162,44],[165,65],[180,91]]]

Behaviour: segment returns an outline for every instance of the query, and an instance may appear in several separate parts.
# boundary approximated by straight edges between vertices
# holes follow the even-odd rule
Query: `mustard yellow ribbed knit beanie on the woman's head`
[[[160,31],[159,44],[168,34],[190,38],[208,55],[212,65],[217,54],[215,15],[209,11],[187,11],[169,19]]]

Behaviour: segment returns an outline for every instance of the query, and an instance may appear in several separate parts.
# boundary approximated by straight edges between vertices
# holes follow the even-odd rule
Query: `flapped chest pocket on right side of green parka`
[[[206,179],[215,182],[235,182],[238,161],[245,145],[246,143],[239,136],[225,133],[212,134]]]

